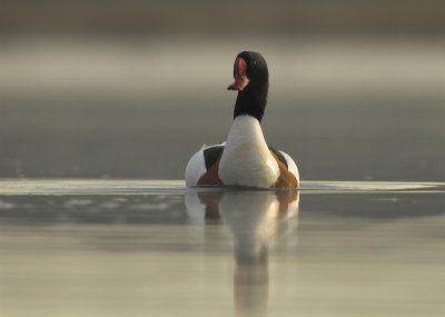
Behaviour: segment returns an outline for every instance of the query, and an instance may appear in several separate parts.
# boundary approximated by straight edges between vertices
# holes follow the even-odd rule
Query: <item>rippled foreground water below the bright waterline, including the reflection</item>
[[[444,316],[445,184],[0,181],[1,316]]]

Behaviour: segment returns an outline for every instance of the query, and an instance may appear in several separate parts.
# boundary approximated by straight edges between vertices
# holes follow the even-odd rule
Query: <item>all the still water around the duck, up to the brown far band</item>
[[[4,38],[0,316],[444,316],[444,48]],[[172,180],[226,138],[244,49],[268,62],[261,126],[299,191]]]

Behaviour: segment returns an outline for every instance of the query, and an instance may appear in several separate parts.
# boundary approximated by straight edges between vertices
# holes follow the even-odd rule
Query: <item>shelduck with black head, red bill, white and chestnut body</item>
[[[227,89],[238,91],[238,96],[227,139],[204,145],[191,156],[185,172],[186,186],[298,188],[297,165],[288,153],[269,147],[261,130],[269,90],[266,60],[259,52],[238,53],[234,79]]]

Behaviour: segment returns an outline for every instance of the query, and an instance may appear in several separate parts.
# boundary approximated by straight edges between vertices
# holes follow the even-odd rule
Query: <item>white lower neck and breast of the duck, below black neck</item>
[[[256,118],[247,115],[235,118],[219,162],[218,176],[225,185],[266,188],[278,179],[278,164],[267,147]]]

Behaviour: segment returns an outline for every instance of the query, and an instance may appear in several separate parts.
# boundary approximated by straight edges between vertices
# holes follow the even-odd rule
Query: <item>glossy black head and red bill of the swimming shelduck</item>
[[[249,88],[266,89],[269,86],[269,71],[266,60],[258,52],[244,51],[235,59],[235,81],[227,89],[243,91]]]

